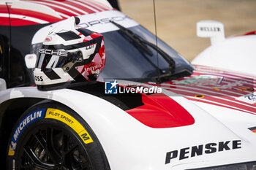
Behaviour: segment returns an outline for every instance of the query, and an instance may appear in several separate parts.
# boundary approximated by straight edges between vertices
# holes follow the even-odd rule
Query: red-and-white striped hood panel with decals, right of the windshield
[[[236,109],[252,115],[256,112],[254,77],[208,66],[195,66],[192,76],[164,82],[160,86],[192,101]]]

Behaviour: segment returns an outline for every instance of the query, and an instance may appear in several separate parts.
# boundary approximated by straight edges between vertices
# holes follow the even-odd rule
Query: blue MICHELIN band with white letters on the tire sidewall
[[[26,117],[23,118],[23,120],[18,123],[17,128],[15,129],[15,132],[12,136],[10,147],[8,151],[8,155],[12,156],[15,154],[15,148],[18,142],[18,139],[20,137],[20,134],[24,131],[24,129],[35,120],[39,120],[45,117],[45,109],[38,109],[34,112],[29,113],[29,115],[26,115]]]

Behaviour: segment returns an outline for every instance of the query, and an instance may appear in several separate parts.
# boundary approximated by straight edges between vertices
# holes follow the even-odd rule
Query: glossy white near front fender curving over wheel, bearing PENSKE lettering
[[[165,90],[164,93],[167,96],[173,94]],[[0,103],[10,98],[46,98],[59,101],[74,109],[94,129],[113,170],[170,169],[171,167],[183,169],[184,166],[180,164],[189,163],[189,167],[192,168],[199,164],[201,166],[202,161],[207,162],[208,166],[214,166],[218,163],[240,163],[241,160],[253,161],[254,158],[254,152],[252,152],[255,150],[253,148],[256,148],[255,143],[252,142],[256,139],[254,133],[244,128],[241,131],[246,135],[242,138],[206,111],[181,96],[172,97],[172,99],[187,109],[194,117],[195,123],[176,128],[150,128],[108,101],[76,90],[62,89],[43,92],[31,87],[12,88],[1,91],[0,95]],[[238,141],[238,149],[232,149],[234,141]],[[212,154],[203,153],[203,155],[192,158],[191,151],[187,149],[189,153],[186,153],[184,159],[173,158],[170,163],[165,164],[167,152],[219,142],[228,142],[230,149],[212,152]],[[240,156],[237,158],[236,155],[240,155],[242,159]]]

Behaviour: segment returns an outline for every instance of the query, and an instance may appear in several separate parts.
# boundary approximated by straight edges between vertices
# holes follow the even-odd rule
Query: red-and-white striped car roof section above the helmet
[[[105,1],[1,1],[0,17],[3,26],[29,26],[111,9]]]

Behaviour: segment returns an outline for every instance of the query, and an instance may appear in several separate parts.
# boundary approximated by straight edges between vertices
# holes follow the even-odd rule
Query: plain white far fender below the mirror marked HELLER
[[[197,55],[192,64],[225,69],[255,77],[256,35],[230,36]]]

